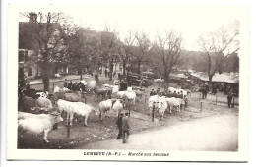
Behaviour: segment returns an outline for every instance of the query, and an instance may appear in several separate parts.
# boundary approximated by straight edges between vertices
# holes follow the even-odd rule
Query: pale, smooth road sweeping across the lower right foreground
[[[78,149],[137,149],[237,151],[238,113],[199,118],[156,131],[131,134],[128,143],[109,139],[80,145]]]

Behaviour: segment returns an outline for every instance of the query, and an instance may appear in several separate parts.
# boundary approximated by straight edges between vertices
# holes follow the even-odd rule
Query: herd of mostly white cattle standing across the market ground
[[[85,82],[87,85],[87,91],[84,92],[72,91],[68,88],[55,87],[54,92],[49,94],[48,92],[38,92],[34,89],[25,90],[23,92],[23,112],[18,112],[18,132],[20,137],[23,137],[24,133],[39,135],[44,133],[43,139],[49,142],[47,134],[53,129],[56,123],[62,122],[63,114],[66,113],[67,120],[70,120],[70,126],[72,122],[78,122],[80,119],[84,120],[84,125],[88,125],[87,120],[91,113],[98,115],[99,119],[103,120],[103,115],[107,119],[109,112],[113,111],[118,117],[119,114],[124,111],[127,106],[134,105],[137,100],[142,100],[144,91],[132,87],[128,87],[126,91],[119,91],[118,85],[102,84],[97,87],[96,81]],[[175,89],[169,87],[169,91],[183,91],[185,90]],[[98,106],[92,106],[86,102],[87,95],[95,94],[95,96],[102,96],[102,100],[98,103]],[[114,97],[114,98],[112,98]],[[159,112],[160,119],[163,119],[165,110],[171,110],[173,107],[177,107],[180,112],[180,106],[186,102],[185,98],[165,97],[154,95],[149,98],[149,109],[152,112],[154,109]],[[68,121],[67,121],[68,122]]]

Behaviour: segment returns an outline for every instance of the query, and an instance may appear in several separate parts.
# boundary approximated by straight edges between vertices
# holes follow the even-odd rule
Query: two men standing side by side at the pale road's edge
[[[128,139],[129,137],[129,130],[130,130],[130,125],[129,125],[129,113],[120,113],[117,121],[116,121],[116,125],[119,129],[119,133],[117,135],[116,139],[123,139],[123,143],[126,143],[126,139]]]

